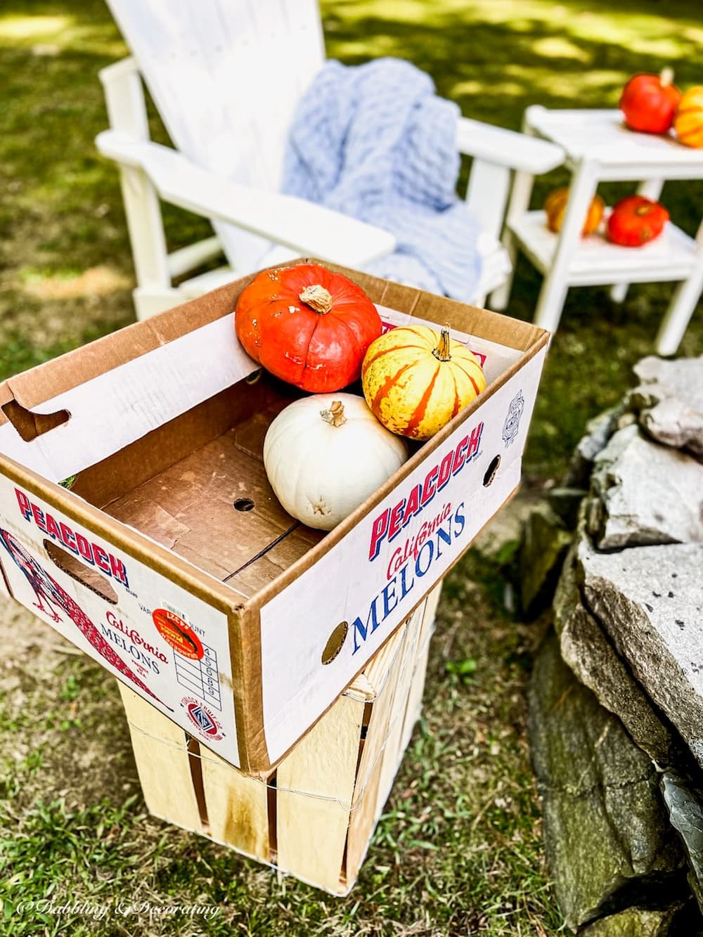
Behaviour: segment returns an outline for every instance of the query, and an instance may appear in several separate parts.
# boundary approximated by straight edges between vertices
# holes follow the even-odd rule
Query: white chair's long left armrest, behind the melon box
[[[396,247],[388,231],[311,201],[241,186],[159,143],[105,130],[98,134],[96,145],[104,156],[144,171],[164,201],[229,222],[302,254],[353,267]]]

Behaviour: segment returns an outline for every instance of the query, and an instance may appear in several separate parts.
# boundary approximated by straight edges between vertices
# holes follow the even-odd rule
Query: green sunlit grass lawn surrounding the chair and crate
[[[101,0],[16,0],[0,12],[0,378],[133,320],[117,172],[95,150],[106,126],[97,71],[126,50]],[[411,59],[464,113],[518,128],[528,104],[612,107],[636,71],[671,64],[703,82],[703,12],[657,0],[325,0],[327,50],[350,64]],[[697,63],[697,65],[696,65]],[[163,130],[154,122],[154,132]],[[540,203],[566,182],[535,187]],[[632,186],[604,186],[609,201]],[[662,196],[689,233],[703,184]],[[207,226],[166,212],[172,247]],[[539,277],[521,260],[509,313],[531,319]],[[620,399],[651,351],[669,284],[571,290],[546,364],[526,487],[558,479],[586,421]],[[703,351],[700,308],[681,354]],[[472,550],[448,580],[425,715],[358,885],[336,900],[145,815],[113,681],[6,614],[0,664],[0,888],[8,935],[556,934],[525,734],[524,688],[542,626],[505,607],[515,543]],[[509,589],[507,590],[509,593]],[[2,600],[0,600],[1,602]],[[510,604],[510,603],[509,603]],[[8,606],[9,607],[9,606]],[[14,617],[16,616],[16,617]],[[467,663],[468,662],[468,663]],[[104,916],[18,909],[52,896]],[[205,920],[147,911],[199,902]]]

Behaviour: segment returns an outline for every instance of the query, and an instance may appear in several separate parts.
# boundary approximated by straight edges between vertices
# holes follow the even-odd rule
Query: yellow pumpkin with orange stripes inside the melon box
[[[471,351],[426,325],[400,326],[368,346],[361,369],[366,403],[399,436],[430,439],[486,387]]]

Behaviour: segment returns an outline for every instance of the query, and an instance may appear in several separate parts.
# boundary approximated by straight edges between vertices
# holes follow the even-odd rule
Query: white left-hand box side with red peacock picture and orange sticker
[[[238,766],[227,617],[0,476],[12,595]]]

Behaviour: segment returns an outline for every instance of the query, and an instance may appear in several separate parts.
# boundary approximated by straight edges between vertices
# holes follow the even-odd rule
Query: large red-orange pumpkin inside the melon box
[[[254,277],[237,300],[234,328],[267,371],[327,394],[358,379],[382,326],[376,306],[348,276],[298,263]]]

